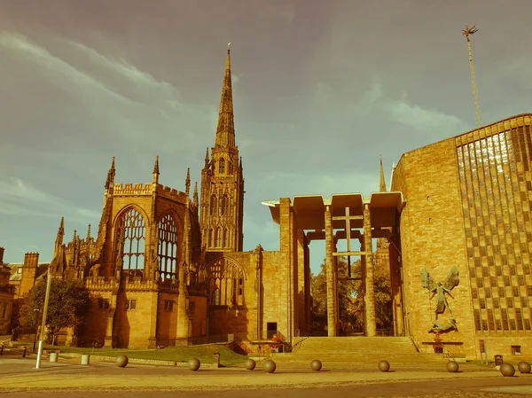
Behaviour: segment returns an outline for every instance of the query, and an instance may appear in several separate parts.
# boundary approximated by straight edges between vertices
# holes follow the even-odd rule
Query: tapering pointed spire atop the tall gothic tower
[[[227,46],[227,60],[225,62],[225,75],[223,77],[222,98],[220,99],[220,113],[218,114],[218,127],[216,129],[216,147],[235,146],[235,125],[231,85],[231,50],[229,44]]]

